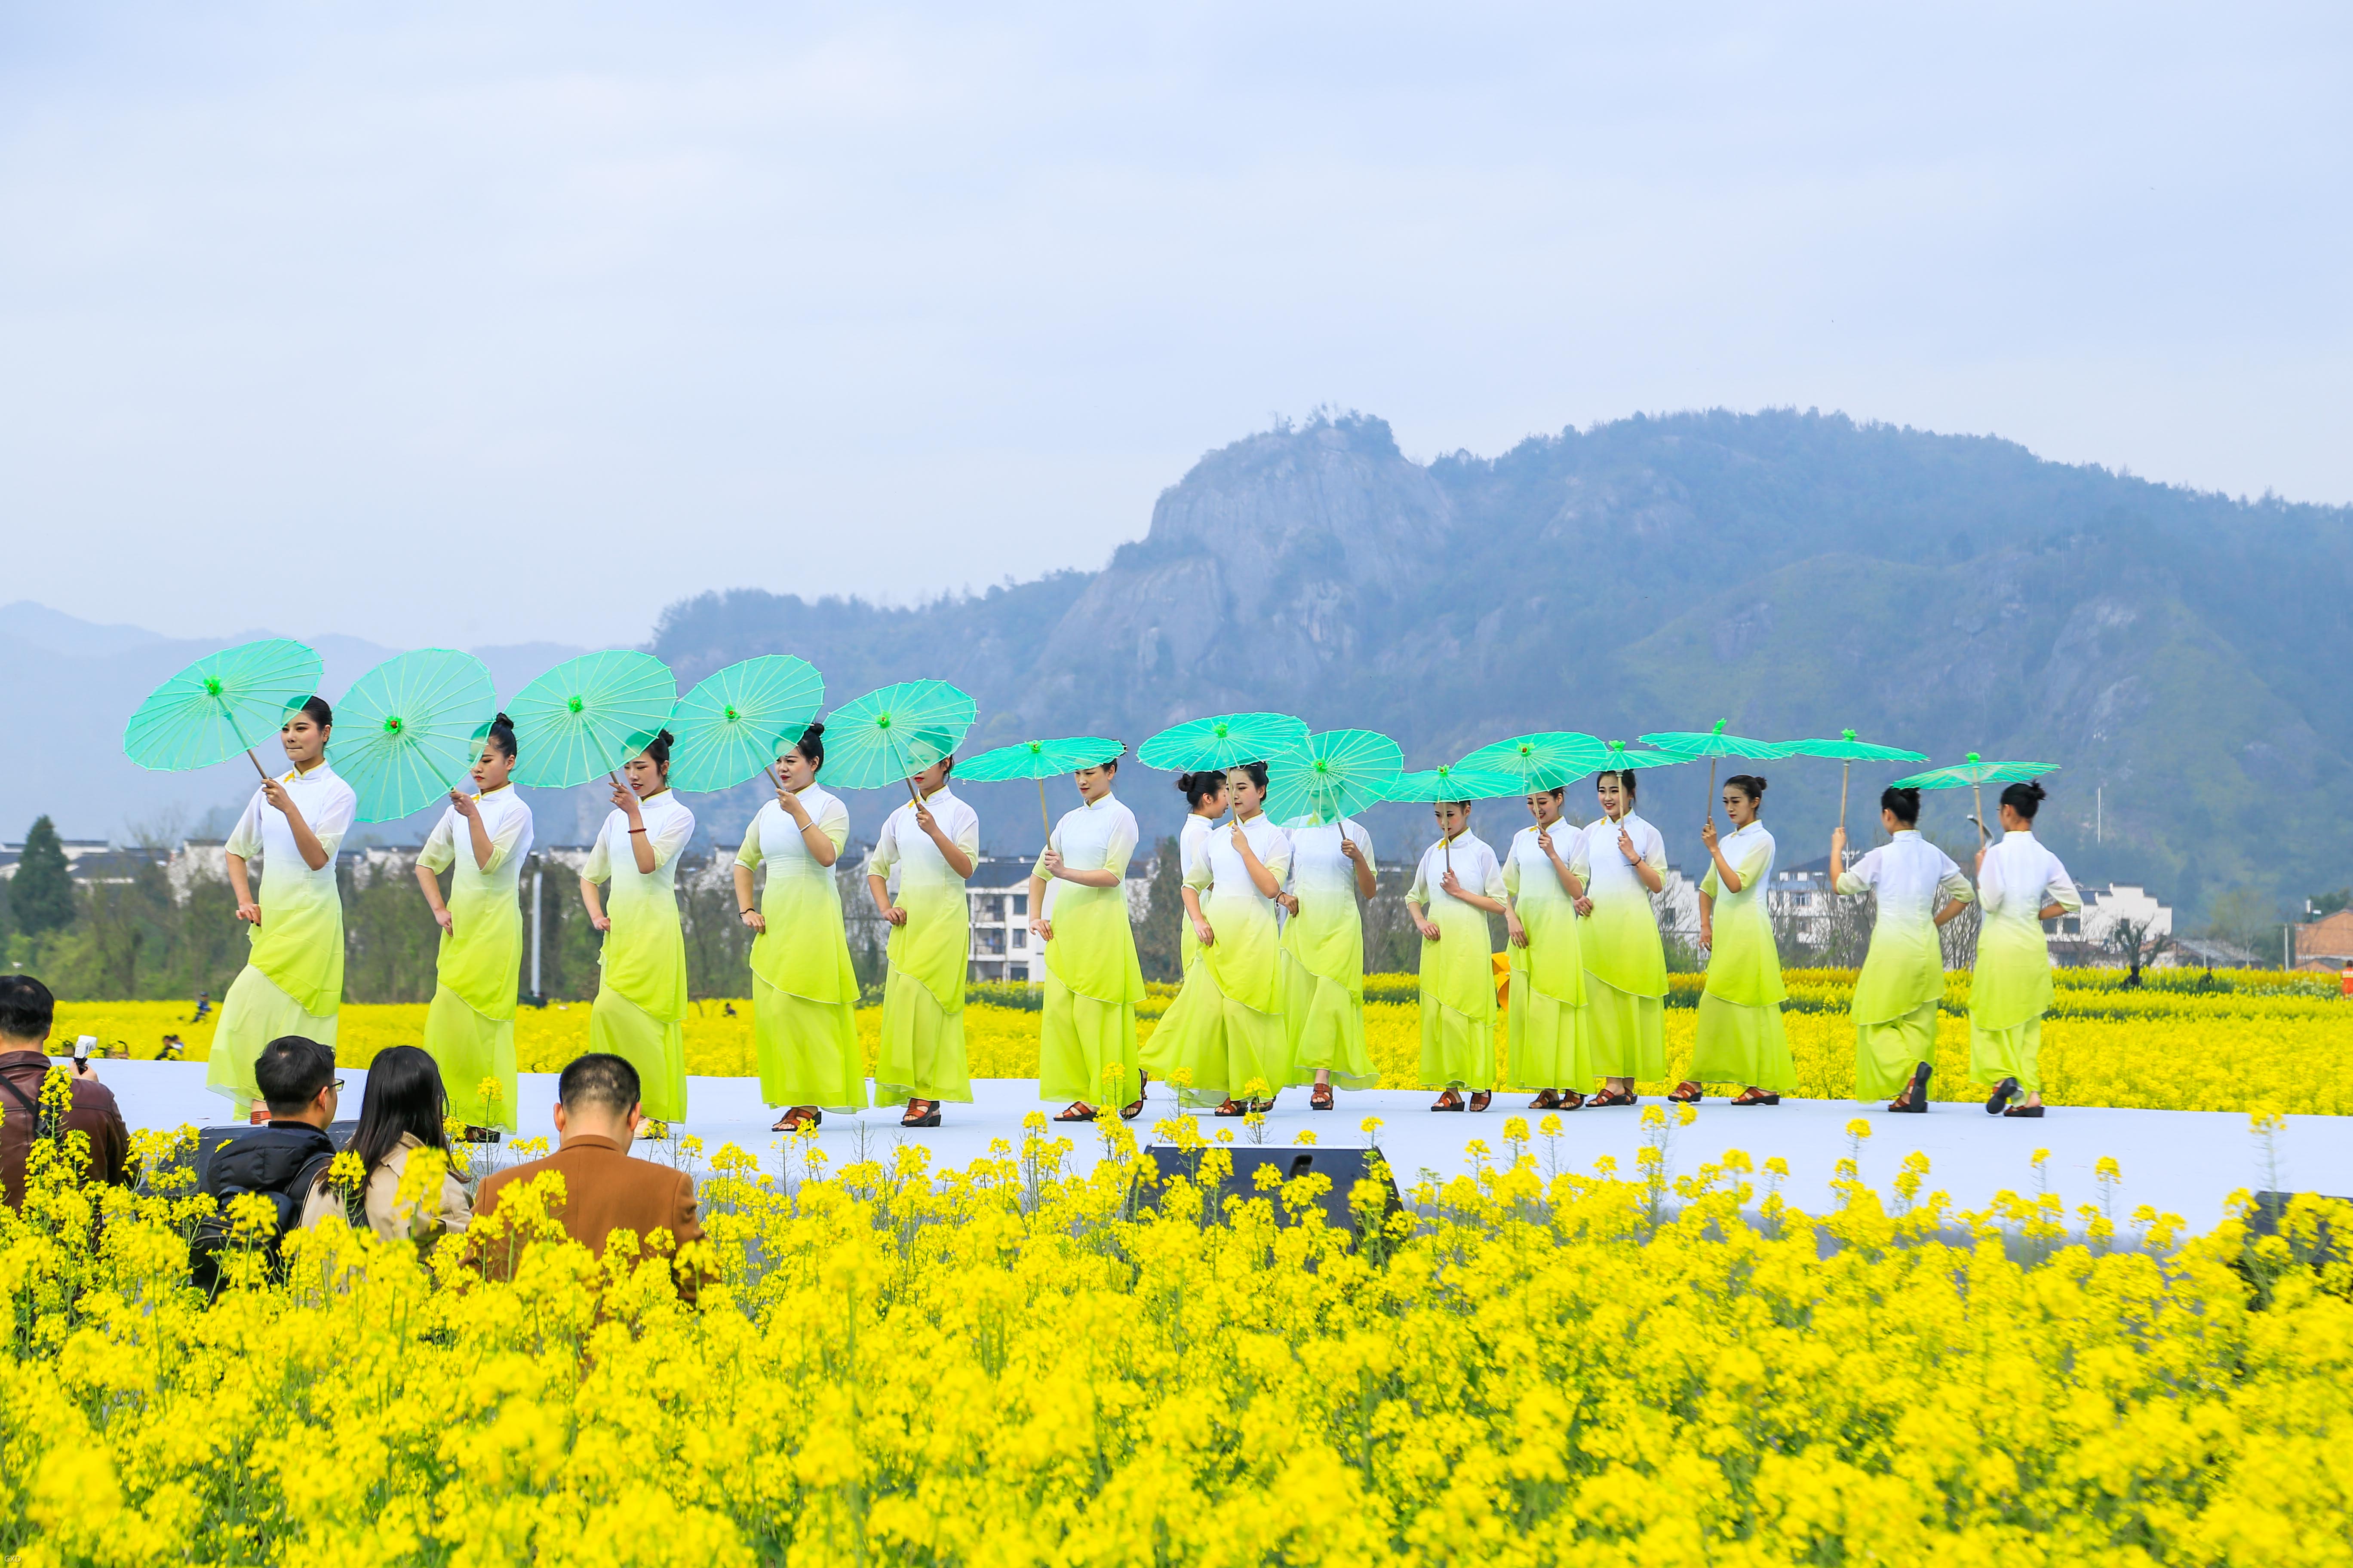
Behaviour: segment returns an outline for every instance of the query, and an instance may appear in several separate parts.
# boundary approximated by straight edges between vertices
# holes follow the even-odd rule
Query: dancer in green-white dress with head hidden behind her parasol
[[[1308,1110],[1332,1110],[1332,1084],[1379,1088],[1365,1044],[1365,914],[1379,886],[1372,839],[1351,816],[1292,827],[1292,891],[1282,922],[1282,1032]]]

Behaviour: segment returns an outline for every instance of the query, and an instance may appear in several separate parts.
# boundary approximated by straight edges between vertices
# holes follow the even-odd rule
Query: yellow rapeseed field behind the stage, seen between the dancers
[[[2271,971],[2165,971],[2127,990],[2120,971],[2061,969],[2059,999],[2042,1027],[2042,1093],[2057,1105],[2115,1105],[2137,1110],[2254,1110],[2282,1105],[2315,1114],[2353,1114],[2353,1001],[2334,978]],[[2325,983],[2325,985],[2322,985]],[[1685,1072],[1699,1023],[1701,976],[1675,976],[1666,1011],[1668,1077],[1642,1084],[1664,1093]],[[1798,969],[1788,973],[1788,1044],[1798,1060],[1800,1093],[1854,1093],[1854,1032],[1847,999],[1854,971]],[[1174,987],[1155,985],[1139,1006],[1148,1032]],[[1412,976],[1372,976],[1365,985],[1365,1034],[1384,1088],[1419,1088],[1421,1023]],[[965,1039],[974,1077],[1038,1077],[1038,1013],[1021,1006],[1024,987],[974,987],[965,1009]],[[1937,1037],[1937,1098],[1969,1084],[1969,976],[1946,987]],[[729,1016],[727,1009],[734,1006]],[[360,1006],[341,1013],[336,1056],[365,1067],[384,1046],[416,1044],[426,1009]],[[94,1034],[129,1056],[153,1056],[167,1032],[186,1039],[188,1060],[205,1056],[212,1023],[186,1023],[186,1006],[169,1001],[59,1004],[56,1037]],[[687,1072],[753,1074],[751,1004],[696,1001],[685,1025]],[[859,1011],[868,1070],[882,1039],[880,1009]],[[1501,1063],[1501,1025],[1497,1060]],[[588,1046],[588,1004],[525,1009],[515,1018],[515,1056],[525,1072],[558,1072]],[[1529,1084],[1527,1088],[1541,1088]]]

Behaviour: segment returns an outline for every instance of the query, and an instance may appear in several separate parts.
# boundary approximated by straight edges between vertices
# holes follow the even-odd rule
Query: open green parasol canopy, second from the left
[[[391,823],[456,788],[473,766],[499,689],[456,649],[395,654],[334,708],[334,771],[360,797],[358,820]]]

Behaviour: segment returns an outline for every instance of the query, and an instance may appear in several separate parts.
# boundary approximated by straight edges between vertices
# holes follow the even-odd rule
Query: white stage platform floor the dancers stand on
[[[99,1063],[99,1077],[113,1086],[122,1103],[122,1114],[132,1126],[169,1128],[179,1124],[226,1121],[224,1100],[205,1091],[202,1063]],[[346,1070],[344,1117],[360,1114],[367,1074]],[[776,1145],[769,1133],[774,1110],[760,1105],[758,1079],[689,1079],[692,1114],[680,1126],[704,1140],[706,1159],[722,1145],[734,1143],[760,1157],[762,1166],[776,1168]],[[826,1114],[819,1133],[833,1168],[859,1157],[859,1140],[868,1157],[889,1157],[901,1138],[918,1138],[932,1150],[932,1164],[958,1166],[988,1152],[988,1143],[1005,1138],[1014,1147],[1021,1143],[1021,1117],[1033,1110],[1047,1114],[1061,1105],[1042,1105],[1031,1079],[984,1079],[972,1086],[972,1105],[948,1105],[944,1126],[929,1131],[901,1131],[899,1107],[875,1107],[859,1117]],[[553,1074],[525,1074],[522,1088],[522,1135],[553,1140],[551,1112],[555,1105]],[[1485,1114],[1433,1114],[1428,1093],[1367,1091],[1341,1093],[1339,1110],[1311,1112],[1306,1091],[1285,1091],[1266,1124],[1268,1145],[1289,1145],[1299,1128],[1313,1128],[1322,1147],[1362,1147],[1365,1117],[1381,1117],[1381,1150],[1388,1154],[1402,1187],[1412,1187],[1417,1173],[1435,1171],[1454,1175],[1471,1168],[1464,1145],[1485,1140],[1497,1157],[1504,1152],[1504,1117],[1525,1114],[1529,1128],[1541,1121],[1541,1112],[1522,1110],[1525,1093],[1497,1095]],[[1146,1112],[1129,1124],[1139,1143],[1153,1140],[1153,1121],[1176,1114],[1167,1091],[1153,1086]],[[1214,1121],[1207,1112],[1195,1112],[1207,1135],[1231,1126],[1240,1140],[1240,1121]],[[1689,1173],[1704,1161],[1718,1159],[1725,1150],[1746,1150],[1760,1166],[1779,1154],[1788,1161],[1791,1182],[1784,1190],[1791,1204],[1824,1213],[1833,1208],[1828,1187],[1831,1171],[1847,1152],[1845,1124],[1849,1117],[1871,1121],[1871,1140],[1864,1145],[1864,1180],[1882,1192],[1894,1180],[1904,1157],[1920,1150],[1929,1157],[1925,1192],[1944,1190],[1962,1208],[1981,1208],[1995,1192],[2033,1192],[2035,1175],[2028,1164],[2038,1147],[2052,1152],[2049,1178],[2068,1211],[2075,1204],[2094,1201],[2099,1185],[2092,1166],[2111,1154],[2122,1166],[2125,1180],[2115,1197],[2115,1218],[2122,1229],[2125,1218],[2139,1204],[2153,1204],[2160,1213],[2177,1213],[2195,1229],[2207,1229],[2221,1220],[2224,1199],[2238,1187],[2266,1187],[2264,1152],[2247,1128],[2247,1117],[2238,1112],[2169,1112],[2169,1110],[2068,1110],[2054,1107],[2040,1121],[2009,1121],[1988,1117],[1979,1103],[1934,1105],[1925,1117],[1889,1114],[1885,1107],[1859,1107],[1847,1100],[1784,1100],[1777,1107],[1734,1110],[1725,1100],[1711,1098],[1699,1107],[1699,1119],[1675,1133],[1675,1171]],[[1638,1110],[1569,1112],[1562,1117],[1560,1154],[1565,1168],[1591,1171],[1602,1154],[1614,1154],[1621,1173],[1633,1173],[1635,1152],[1642,1147]],[[1092,1126],[1056,1126],[1056,1135],[1071,1138],[1071,1159],[1092,1164],[1101,1150]],[[1544,1159],[1544,1140],[1534,1140],[1537,1159]],[[2278,1140],[2278,1180],[2289,1192],[2353,1194],[2353,1119],[2348,1117],[2289,1117],[2287,1131]],[[2073,1220],[2071,1220],[2073,1222]]]

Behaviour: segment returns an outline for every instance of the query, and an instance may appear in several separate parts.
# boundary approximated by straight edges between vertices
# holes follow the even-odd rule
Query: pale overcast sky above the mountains
[[[0,7],[7,585],[626,644],[1099,567],[1315,404],[2353,501],[2353,9]]]

